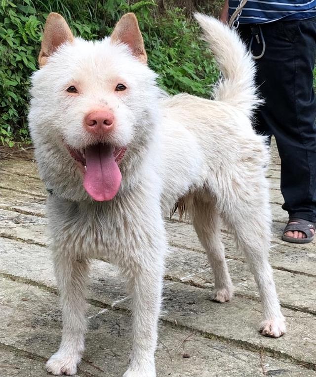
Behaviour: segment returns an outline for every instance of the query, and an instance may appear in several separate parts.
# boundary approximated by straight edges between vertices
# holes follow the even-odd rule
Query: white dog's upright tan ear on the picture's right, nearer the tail
[[[118,21],[111,35],[111,40],[126,44],[134,56],[142,63],[147,63],[143,37],[134,13],[127,13]]]

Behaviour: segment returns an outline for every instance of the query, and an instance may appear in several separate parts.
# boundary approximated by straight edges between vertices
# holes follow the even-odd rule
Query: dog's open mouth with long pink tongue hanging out
[[[76,160],[83,175],[83,187],[92,199],[97,201],[112,200],[118,193],[122,176],[119,162],[126,147],[115,148],[110,144],[98,143],[84,149],[66,146]]]

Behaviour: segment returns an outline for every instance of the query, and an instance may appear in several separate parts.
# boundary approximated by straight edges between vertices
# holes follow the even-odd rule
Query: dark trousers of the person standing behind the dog
[[[256,113],[258,133],[274,135],[281,159],[282,208],[290,216],[316,222],[316,97],[313,69],[316,17],[241,25],[243,40],[259,55],[256,83],[265,104]],[[262,38],[263,37],[263,38]],[[259,43],[257,42],[259,39]]]

